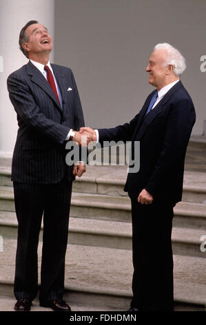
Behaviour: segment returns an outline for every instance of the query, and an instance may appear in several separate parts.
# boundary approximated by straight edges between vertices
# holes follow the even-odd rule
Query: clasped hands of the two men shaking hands
[[[87,147],[87,145],[95,141],[96,142],[96,131],[91,129],[90,127],[81,127],[79,132],[74,131],[75,135],[70,138],[72,141],[78,143],[78,145],[82,145],[83,147]]]

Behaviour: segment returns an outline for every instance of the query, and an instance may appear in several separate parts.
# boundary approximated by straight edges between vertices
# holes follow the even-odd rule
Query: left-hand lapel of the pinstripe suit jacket
[[[58,109],[61,110],[61,106],[54,94],[54,91],[52,91],[50,84],[45,79],[43,74],[38,70],[38,68],[36,68],[36,66],[34,66],[34,64],[32,64],[32,62],[29,61],[27,64],[27,70],[28,70],[28,75],[31,76],[31,81],[34,82],[35,84],[38,84],[38,86],[41,87],[41,89],[43,89],[43,91],[45,91],[45,93],[47,93],[52,98],[52,100],[54,100],[55,104],[58,106]]]

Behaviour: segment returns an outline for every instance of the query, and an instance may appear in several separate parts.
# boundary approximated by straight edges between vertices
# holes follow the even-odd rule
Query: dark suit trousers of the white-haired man
[[[132,201],[132,307],[172,311],[174,304],[172,219],[174,205]]]

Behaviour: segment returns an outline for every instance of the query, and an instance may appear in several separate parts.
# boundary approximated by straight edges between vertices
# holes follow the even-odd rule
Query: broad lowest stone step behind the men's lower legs
[[[14,239],[3,242],[3,252],[0,252],[0,297],[13,297],[16,245]],[[39,275],[41,248],[40,242]],[[174,255],[176,310],[205,309],[205,268],[206,259]],[[101,306],[104,310],[127,310],[132,298],[132,272],[130,250],[69,244],[64,299],[69,304],[80,304],[87,308]]]

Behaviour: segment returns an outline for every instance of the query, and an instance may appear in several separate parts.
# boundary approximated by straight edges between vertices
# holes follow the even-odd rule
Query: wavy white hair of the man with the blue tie
[[[169,64],[174,66],[175,75],[180,77],[186,68],[185,57],[183,57],[183,55],[181,55],[181,53],[176,48],[168,43],[156,44],[156,46],[154,46],[154,50],[166,50],[167,59],[165,60],[165,66]]]

